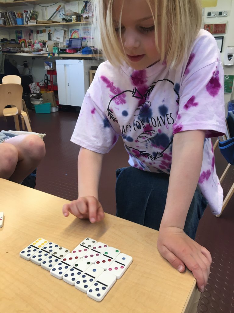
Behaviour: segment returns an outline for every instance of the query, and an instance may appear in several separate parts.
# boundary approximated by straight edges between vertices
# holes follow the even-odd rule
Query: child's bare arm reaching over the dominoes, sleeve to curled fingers
[[[103,208],[98,201],[98,186],[103,154],[80,148],[78,156],[79,198],[63,206],[64,216],[69,212],[78,218],[89,218],[91,223],[104,218]]]

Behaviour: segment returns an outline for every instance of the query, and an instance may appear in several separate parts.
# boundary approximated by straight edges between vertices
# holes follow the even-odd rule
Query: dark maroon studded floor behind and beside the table
[[[68,200],[76,199],[77,155],[79,147],[70,141],[78,112],[64,108],[51,114],[30,112],[32,131],[45,133],[46,156],[37,169],[36,189]],[[11,118],[0,119],[3,130],[13,129]],[[219,149],[215,151],[219,177],[227,166]],[[105,212],[115,214],[115,170],[128,166],[128,156],[121,139],[108,155],[104,156],[100,179],[100,202]],[[222,186],[224,194],[234,181],[234,168],[229,170]],[[207,208],[198,230],[196,241],[212,254],[212,267],[208,284],[201,295],[197,313],[234,313],[234,197],[220,218]]]

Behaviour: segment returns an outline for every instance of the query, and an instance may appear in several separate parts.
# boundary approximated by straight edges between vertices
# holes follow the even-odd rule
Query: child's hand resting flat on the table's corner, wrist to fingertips
[[[206,248],[177,227],[160,229],[157,246],[160,254],[179,272],[184,272],[187,266],[197,280],[198,289],[204,291],[212,262],[211,254]]]

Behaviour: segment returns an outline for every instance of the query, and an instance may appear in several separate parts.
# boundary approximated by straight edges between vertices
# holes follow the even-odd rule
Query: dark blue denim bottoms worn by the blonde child
[[[169,175],[146,172],[130,166],[117,169],[116,178],[116,215],[159,230],[166,204]],[[207,204],[207,199],[197,188],[184,226],[184,232],[192,239],[195,239],[198,222]]]

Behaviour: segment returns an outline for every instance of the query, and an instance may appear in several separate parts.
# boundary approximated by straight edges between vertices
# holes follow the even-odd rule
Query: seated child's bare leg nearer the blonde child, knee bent
[[[20,183],[35,170],[45,156],[45,144],[37,135],[15,136],[5,140],[2,145],[6,143],[12,144],[18,151],[18,163],[9,180]]]

